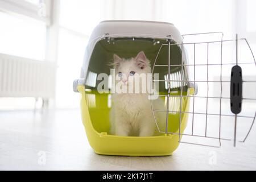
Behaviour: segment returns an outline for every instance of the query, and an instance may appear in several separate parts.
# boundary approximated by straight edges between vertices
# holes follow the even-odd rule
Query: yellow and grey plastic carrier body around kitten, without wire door
[[[94,28],[86,47],[80,79],[75,80],[73,89],[81,93],[82,123],[90,146],[97,154],[164,156],[172,155],[179,146],[187,125],[189,107],[189,97],[180,96],[181,92],[183,96],[193,94],[193,87],[187,82],[172,82],[168,93],[167,82],[164,80],[168,74],[172,74],[175,80],[189,80],[188,68],[181,66],[187,64],[187,54],[181,46],[182,40],[174,24],[166,22],[110,20],[101,22]],[[166,129],[161,129],[154,137],[110,135],[111,96],[109,93],[97,92],[99,80],[96,77],[101,73],[110,75],[112,67],[109,63],[113,61],[114,54],[127,59],[136,56],[139,51],[143,51],[151,61],[152,73],[159,74],[159,80],[162,80],[158,83],[158,93],[162,96],[174,96],[161,97],[164,105],[167,106],[168,102],[168,107],[172,107],[172,110],[168,109],[168,132],[164,133]],[[168,67],[164,66],[167,64]],[[153,108],[152,112],[154,114]]]

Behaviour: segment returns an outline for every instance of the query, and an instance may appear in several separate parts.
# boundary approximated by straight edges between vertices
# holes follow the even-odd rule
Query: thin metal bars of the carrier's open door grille
[[[221,39],[220,40],[217,40],[217,41],[210,41],[210,42],[189,42],[189,43],[185,43],[184,42],[184,37],[186,36],[195,36],[195,35],[205,35],[205,34],[209,34],[209,35],[212,35],[212,34],[220,34],[221,35]],[[240,142],[245,142],[245,140],[247,139],[252,127],[253,127],[253,124],[254,124],[254,121],[255,121],[255,117],[256,117],[256,111],[255,111],[255,114],[254,116],[251,116],[251,115],[240,115],[240,114],[225,114],[225,113],[222,113],[222,102],[223,100],[230,100],[230,97],[225,97],[222,95],[222,91],[223,91],[223,84],[224,83],[228,83],[230,84],[230,80],[222,80],[222,68],[224,67],[224,65],[243,65],[243,64],[249,64],[251,65],[251,67],[254,67],[256,68],[256,62],[255,62],[255,57],[253,55],[253,52],[251,50],[251,47],[249,45],[249,43],[247,42],[247,40],[245,38],[242,38],[242,39],[238,39],[237,38],[237,35],[236,35],[236,39],[228,39],[228,40],[223,40],[223,33],[222,32],[207,32],[207,33],[203,33],[203,34],[187,34],[187,35],[183,35],[183,40],[181,43],[173,43],[173,40],[171,39],[171,36],[167,36],[167,43],[166,44],[162,44],[162,46],[160,47],[159,51],[158,51],[158,54],[156,55],[155,57],[155,61],[154,61],[154,65],[152,67],[152,73],[154,73],[154,68],[155,67],[167,67],[168,68],[168,75],[166,76],[165,80],[153,80],[153,81],[164,81],[166,82],[166,88],[167,88],[167,94],[159,94],[159,97],[166,97],[167,98],[167,109],[155,109],[154,108],[154,105],[152,104],[152,101],[151,101],[151,109],[152,109],[152,112],[153,112],[153,115],[154,115],[154,119],[155,119],[155,123],[156,123],[156,126],[158,126],[158,123],[156,121],[156,117],[155,117],[155,113],[156,112],[166,112],[166,126],[165,126],[165,131],[161,131],[159,129],[159,126],[158,126],[158,131],[159,133],[165,133],[165,134],[174,134],[174,135],[179,135],[179,142],[180,143],[189,143],[189,144],[199,144],[199,145],[203,145],[203,146],[212,146],[212,147],[220,147],[221,146],[221,141],[222,140],[229,140],[229,141],[232,141],[233,140],[233,144],[234,146],[236,146],[236,143],[237,143],[237,118],[248,118],[251,120],[251,125],[249,127],[249,130],[248,131],[245,131],[245,137],[243,138],[243,140],[241,140]],[[238,42],[239,41],[243,41],[246,43],[247,47],[249,48],[250,50],[250,53],[251,53],[251,57],[253,57],[253,60],[251,61],[247,61],[246,63],[240,63],[240,61],[238,60]],[[234,42],[234,44],[236,45],[236,48],[235,48],[235,53],[236,53],[236,63],[226,63],[225,60],[223,60],[223,57],[222,57],[222,54],[223,54],[223,44],[225,42]],[[218,43],[220,44],[220,63],[213,63],[213,64],[210,64],[209,63],[209,46],[210,44],[213,44],[213,43]],[[205,59],[205,63],[197,63],[197,60],[196,60],[196,46],[198,44],[205,44],[206,47],[207,47],[207,59]],[[188,63],[185,63],[184,61],[184,47],[187,46],[187,45],[190,45],[193,47],[193,64],[188,64]],[[163,48],[163,46],[168,46],[168,59],[167,59],[167,64],[157,64],[157,60],[158,60],[158,56],[159,56],[159,52],[160,50]],[[181,51],[181,60],[180,61],[180,64],[171,64],[171,46],[179,46],[180,47],[180,51]],[[214,66],[217,66],[220,68],[220,80],[209,80],[209,66],[210,65],[214,65]],[[204,80],[196,80],[196,66],[205,66],[207,67],[207,76],[204,78]],[[180,67],[181,68],[181,71],[180,73],[176,74],[176,76],[172,76],[171,74],[171,70],[173,67]],[[189,69],[193,69],[193,76],[192,77],[189,77],[187,72],[189,71]],[[230,73],[231,73],[231,70],[230,70]],[[256,73],[256,72],[255,72]],[[191,79],[192,78],[192,79]],[[220,84],[220,96],[216,97],[216,96],[209,96],[209,84],[210,83],[219,83]],[[253,82],[253,83],[256,83],[256,80],[242,80],[242,83],[245,83],[245,82]],[[180,89],[180,96],[172,96],[170,93],[171,93],[171,90],[172,88],[174,88],[174,83],[176,83],[176,86],[179,87]],[[205,83],[207,84],[207,94],[206,96],[196,96],[196,85],[200,83]],[[193,88],[193,92],[194,94],[192,95],[187,95],[187,96],[184,96],[183,95],[183,89],[185,88],[185,86],[187,86],[188,88]],[[255,92],[255,90],[252,90]],[[170,110],[170,98],[171,97],[178,97],[179,98],[179,101],[180,101],[180,104],[179,104],[179,110]],[[182,111],[182,106],[183,106],[183,98],[193,98],[192,100],[192,108],[189,108],[189,111]],[[205,113],[204,112],[197,112],[195,111],[195,99],[196,98],[204,98],[206,100],[206,111]],[[209,110],[208,110],[208,107],[209,107],[209,100],[210,99],[217,99],[220,101],[220,105],[218,106],[218,113],[210,113]],[[242,100],[249,100],[249,101],[252,101],[252,102],[255,102],[256,101],[256,98],[246,98],[246,97],[242,97]],[[179,130],[177,132],[170,132],[168,131],[168,125],[170,123],[168,123],[168,117],[169,117],[169,114],[170,113],[179,113]],[[191,114],[191,131],[189,133],[182,133],[181,132],[181,121],[182,121],[182,114]],[[195,132],[195,114],[197,115],[205,115],[205,128],[204,128],[204,134],[203,135],[198,135],[196,134]],[[216,116],[218,117],[218,137],[211,137],[210,135],[208,135],[208,132],[209,132],[209,129],[208,129],[208,117],[210,115],[213,115],[213,116]],[[233,138],[222,138],[221,136],[221,129],[222,129],[222,117],[232,117],[234,119],[234,130],[233,130]],[[170,122],[170,121],[169,121]],[[186,136],[191,136],[191,137],[203,137],[203,138],[209,138],[209,139],[215,139],[215,140],[218,140],[218,145],[212,145],[212,144],[201,144],[201,143],[196,143],[196,142],[184,142],[181,140],[182,136],[183,135],[186,135]]]

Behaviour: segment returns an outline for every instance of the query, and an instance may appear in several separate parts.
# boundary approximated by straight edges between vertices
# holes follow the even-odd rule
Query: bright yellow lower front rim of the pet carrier
[[[77,89],[81,93],[82,123],[85,126],[85,131],[90,146],[97,154],[123,156],[165,156],[172,155],[172,152],[174,152],[179,146],[179,135],[177,134],[163,134],[162,136],[154,137],[120,137],[108,135],[105,132],[98,133],[94,129],[90,119],[89,109],[86,104],[85,86],[78,85]],[[189,106],[188,100],[186,102],[187,103],[183,108],[184,110],[187,110]],[[106,119],[104,118],[106,116],[103,113],[104,112],[97,113],[98,119]],[[172,117],[170,119],[172,119]],[[183,133],[185,126],[187,125],[187,119],[188,114],[182,114],[181,133]],[[108,119],[106,120],[108,121]],[[106,125],[108,124],[109,123],[106,123]],[[179,122],[176,122],[176,125],[176,129],[178,129]]]

